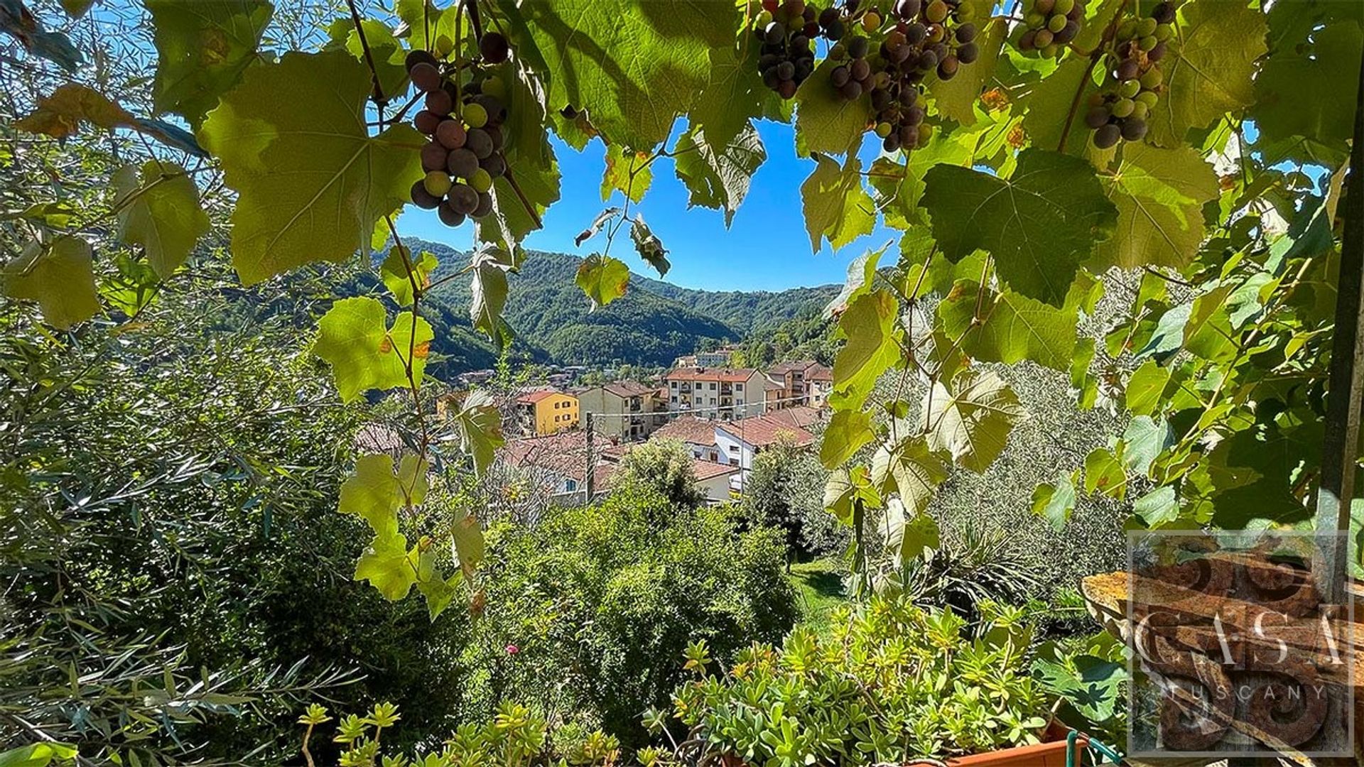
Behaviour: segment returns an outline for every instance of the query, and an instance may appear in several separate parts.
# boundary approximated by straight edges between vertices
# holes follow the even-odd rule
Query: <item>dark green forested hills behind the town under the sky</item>
[[[468,263],[465,252],[441,243],[406,244],[436,255],[441,266],[432,280]],[[514,353],[558,364],[666,366],[702,343],[741,341],[756,329],[807,314],[837,293],[836,285],[782,292],[696,291],[632,274],[623,298],[592,311],[573,283],[580,261],[532,251],[520,273],[510,276],[505,318],[517,333]],[[438,374],[491,367],[496,359],[492,345],[469,323],[469,281],[456,277],[426,303],[436,332],[434,351],[449,358]]]

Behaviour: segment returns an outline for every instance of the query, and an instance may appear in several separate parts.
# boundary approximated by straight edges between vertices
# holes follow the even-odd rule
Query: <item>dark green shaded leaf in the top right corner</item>
[[[1277,10],[1277,8],[1275,8]],[[1275,50],[1255,78],[1255,126],[1266,141],[1304,136],[1345,147],[1354,134],[1354,105],[1364,30],[1342,20],[1312,30],[1299,46]]]

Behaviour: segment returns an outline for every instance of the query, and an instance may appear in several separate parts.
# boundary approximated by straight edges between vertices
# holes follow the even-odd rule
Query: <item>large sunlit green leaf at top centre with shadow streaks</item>
[[[608,145],[649,149],[711,81],[711,52],[734,45],[732,3],[522,3],[546,61],[548,105],[585,109]],[[507,29],[521,50],[518,30]]]

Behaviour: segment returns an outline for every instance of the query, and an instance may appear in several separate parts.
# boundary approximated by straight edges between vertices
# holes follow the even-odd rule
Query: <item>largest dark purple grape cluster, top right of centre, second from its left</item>
[[[848,7],[855,15],[857,3],[844,10]],[[887,151],[928,142],[932,126],[923,121],[919,85],[934,71],[949,81],[963,64],[979,57],[974,18],[971,0],[896,0],[889,30],[876,53],[869,55],[869,38],[859,35],[831,49],[835,60],[848,60],[831,72],[833,86],[847,100],[870,94],[876,135]],[[885,25],[874,8],[859,19],[868,33],[877,33]]]

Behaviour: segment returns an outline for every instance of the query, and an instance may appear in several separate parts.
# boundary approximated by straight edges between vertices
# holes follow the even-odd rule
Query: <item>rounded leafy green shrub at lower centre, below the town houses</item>
[[[782,565],[779,532],[741,531],[724,508],[678,506],[641,483],[535,528],[494,528],[465,712],[539,701],[551,719],[577,714],[636,745],[640,712],[681,681],[672,659],[687,641],[728,659],[791,628]]]

